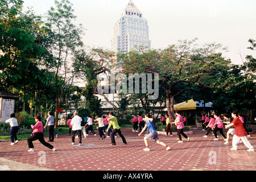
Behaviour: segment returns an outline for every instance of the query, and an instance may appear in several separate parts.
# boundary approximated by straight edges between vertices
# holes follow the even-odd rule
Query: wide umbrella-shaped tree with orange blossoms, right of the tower
[[[123,71],[159,74],[159,88],[166,92],[171,121],[174,120],[175,97],[199,84],[203,76],[218,72],[230,63],[221,57],[221,53],[216,53],[218,49],[225,49],[220,44],[199,47],[195,41],[184,40],[166,49],[141,49],[119,55],[120,62],[125,65]]]

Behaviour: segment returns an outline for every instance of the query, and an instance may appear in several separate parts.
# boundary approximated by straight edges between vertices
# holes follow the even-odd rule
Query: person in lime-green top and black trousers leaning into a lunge
[[[118,133],[119,136],[122,138],[123,143],[124,143],[124,144],[127,144],[126,139],[125,139],[125,137],[123,137],[123,134],[122,134],[122,132],[121,132],[121,130],[120,130],[120,126],[118,125],[117,118],[115,118],[115,117],[113,116],[113,113],[109,113],[108,121],[111,121],[111,122],[109,123],[109,127],[108,127],[108,129],[106,130],[106,132],[108,132],[108,130],[110,129],[111,126],[113,126],[113,129],[114,129],[113,132],[111,133],[111,142],[112,142],[112,145],[115,145],[115,137],[114,137],[114,135],[115,135],[116,133]]]

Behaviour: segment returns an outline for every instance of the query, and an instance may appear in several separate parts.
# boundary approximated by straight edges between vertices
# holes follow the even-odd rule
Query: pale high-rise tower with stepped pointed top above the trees
[[[147,19],[143,18],[141,11],[130,0],[115,23],[112,51],[129,52],[140,46],[150,49],[150,44]]]

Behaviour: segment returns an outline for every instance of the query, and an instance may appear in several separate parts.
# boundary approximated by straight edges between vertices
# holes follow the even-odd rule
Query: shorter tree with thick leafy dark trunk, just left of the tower
[[[76,52],[75,71],[79,74],[81,80],[85,84],[82,94],[85,96],[85,107],[94,113],[94,115],[102,113],[101,100],[95,94],[99,93],[97,86],[99,84],[98,77],[101,74],[110,72],[110,63],[114,60],[114,54],[101,48],[93,48],[86,52],[84,49]],[[106,98],[106,96],[105,96]],[[108,100],[108,98],[106,98]],[[112,104],[111,102],[109,102]]]

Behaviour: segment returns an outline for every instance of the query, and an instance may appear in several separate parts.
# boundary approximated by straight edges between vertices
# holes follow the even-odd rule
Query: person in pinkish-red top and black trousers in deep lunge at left
[[[53,147],[51,144],[47,143],[44,140],[44,134],[43,134],[43,123],[41,122],[41,117],[40,115],[36,115],[35,117],[35,125],[31,125],[31,128],[34,129],[32,131],[32,134],[30,137],[27,138],[27,144],[28,147],[30,148],[30,150],[28,150],[28,152],[34,152],[34,145],[33,145],[33,141],[35,140],[39,140],[39,142],[41,142],[44,146],[48,147],[49,149],[55,151],[56,148]]]

